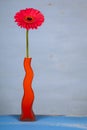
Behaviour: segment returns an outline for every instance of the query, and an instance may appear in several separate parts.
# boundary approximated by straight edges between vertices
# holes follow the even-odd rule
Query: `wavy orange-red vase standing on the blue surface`
[[[24,95],[21,103],[22,114],[21,121],[34,121],[35,115],[32,110],[34,101],[34,92],[32,89],[33,70],[31,67],[32,58],[24,58],[25,78],[23,81]]]

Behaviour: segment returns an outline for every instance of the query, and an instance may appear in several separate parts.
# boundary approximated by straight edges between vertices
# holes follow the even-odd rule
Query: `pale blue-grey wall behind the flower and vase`
[[[20,114],[25,30],[20,9],[45,15],[30,31],[36,114],[87,115],[87,0],[0,0],[0,114]]]

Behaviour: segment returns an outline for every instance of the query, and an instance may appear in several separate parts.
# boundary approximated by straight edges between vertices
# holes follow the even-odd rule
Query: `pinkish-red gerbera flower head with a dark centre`
[[[37,9],[26,8],[17,12],[14,19],[18,26],[30,30],[37,29],[38,26],[42,25],[44,15]]]

